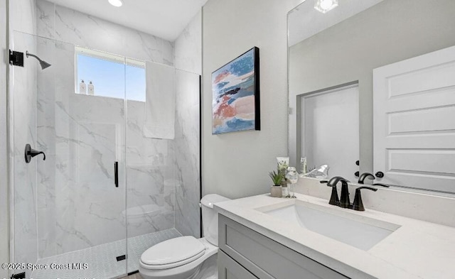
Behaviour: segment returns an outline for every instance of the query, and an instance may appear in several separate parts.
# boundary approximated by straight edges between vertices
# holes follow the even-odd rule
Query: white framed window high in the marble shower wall
[[[121,55],[75,47],[75,93],[82,80],[92,82],[94,95],[145,102],[145,62]],[[88,91],[88,90],[87,90]]]

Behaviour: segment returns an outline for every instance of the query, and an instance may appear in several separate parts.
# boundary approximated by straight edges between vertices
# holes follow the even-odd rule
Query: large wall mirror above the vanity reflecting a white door
[[[291,164],[455,194],[455,1],[319,10],[306,0],[288,14]]]

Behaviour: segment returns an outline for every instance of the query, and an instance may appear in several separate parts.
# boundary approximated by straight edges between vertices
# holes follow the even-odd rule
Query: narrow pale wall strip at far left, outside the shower
[[[6,70],[7,70],[6,0],[0,1],[0,262],[9,262],[8,237],[8,138],[6,136]],[[8,278],[8,270],[0,269],[0,278]]]

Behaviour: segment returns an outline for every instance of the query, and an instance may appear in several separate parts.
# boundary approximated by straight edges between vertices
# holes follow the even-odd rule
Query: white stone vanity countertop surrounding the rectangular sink
[[[291,199],[258,195],[218,202],[215,209],[350,278],[455,278],[455,228],[368,209],[357,212],[330,205],[327,199],[296,196],[303,202],[336,209],[340,216],[355,214],[400,227],[373,248],[363,251],[257,210],[289,203]]]

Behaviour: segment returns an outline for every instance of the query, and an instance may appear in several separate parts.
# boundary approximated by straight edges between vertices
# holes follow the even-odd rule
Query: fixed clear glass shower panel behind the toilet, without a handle
[[[200,77],[131,59],[126,73],[127,271],[134,272],[151,246],[200,238]],[[159,122],[173,128],[173,136],[151,132],[159,118],[152,114],[159,111],[157,94],[175,97],[174,120]]]

